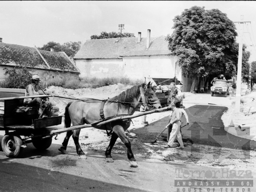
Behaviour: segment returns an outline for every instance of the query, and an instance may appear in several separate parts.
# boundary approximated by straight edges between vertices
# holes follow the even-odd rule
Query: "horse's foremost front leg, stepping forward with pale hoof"
[[[128,137],[125,134],[124,128],[120,125],[116,125],[113,127],[113,132],[118,135],[118,137],[121,139],[121,141],[125,144],[127,147],[127,156],[130,161],[130,167],[137,167],[138,164],[136,162],[136,159],[133,156],[132,150],[131,150],[131,143],[128,139]]]

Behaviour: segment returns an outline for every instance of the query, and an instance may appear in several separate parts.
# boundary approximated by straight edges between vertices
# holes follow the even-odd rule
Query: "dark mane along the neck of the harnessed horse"
[[[126,91],[121,92],[119,95],[110,98],[108,101],[119,101],[119,102],[128,102],[132,103],[134,102],[134,98],[137,98],[140,96],[140,90],[139,87],[141,85],[135,85]],[[126,106],[126,105],[125,105]]]

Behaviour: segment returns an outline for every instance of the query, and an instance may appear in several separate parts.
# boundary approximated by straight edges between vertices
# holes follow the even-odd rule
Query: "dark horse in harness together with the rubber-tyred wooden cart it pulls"
[[[39,114],[36,108],[23,106],[23,100],[25,98],[53,97],[51,95],[1,98],[0,100],[3,100],[4,102],[1,103],[0,107],[0,129],[5,130],[5,136],[1,141],[2,149],[9,157],[18,156],[20,151],[26,147],[27,143],[32,143],[37,149],[47,149],[51,146],[53,136],[67,132],[63,146],[59,150],[62,153],[65,153],[68,139],[73,135],[77,154],[82,158],[85,154],[82,152],[78,142],[80,131],[76,131],[76,129],[94,127],[102,130],[115,131],[115,134],[113,134],[115,137],[114,140],[116,141],[118,137],[122,139],[128,148],[128,158],[131,162],[131,166],[137,167],[137,164],[135,163],[136,160],[131,151],[130,142],[125,135],[125,130],[130,126],[130,119],[169,109],[168,107],[161,108],[160,101],[157,99],[155,92],[150,86],[150,82],[147,87],[144,86],[144,84],[136,85],[108,101],[87,98],[87,100],[70,102],[65,108],[66,128],[57,126],[61,124],[62,116],[39,119]],[[152,105],[151,109],[154,110],[133,114],[141,103],[140,101]],[[177,99],[177,102],[180,102],[180,100]],[[94,113],[89,111],[90,117],[95,115],[95,118],[87,119],[87,121],[85,121],[85,118],[82,117],[84,114],[79,115],[78,118],[73,118],[74,115],[77,115],[76,112],[78,108],[88,109],[89,105],[94,106],[91,108],[91,111],[94,111]],[[105,112],[103,111],[103,107]],[[97,110],[99,111],[98,113],[95,112]],[[101,111],[103,111],[103,117],[101,116]],[[106,111],[110,112],[107,113]],[[71,121],[71,119],[80,121]],[[97,121],[95,119],[99,120]],[[71,123],[73,124],[73,127],[71,127]],[[106,151],[106,160],[108,162],[113,161],[110,154],[114,144],[115,142],[110,142]]]

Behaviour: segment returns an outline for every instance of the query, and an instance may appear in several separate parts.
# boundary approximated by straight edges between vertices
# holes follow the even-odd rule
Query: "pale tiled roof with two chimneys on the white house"
[[[137,37],[90,39],[74,56],[74,59],[121,58],[132,55],[170,55],[165,37],[151,37],[149,49],[146,49],[146,37],[137,43]]]

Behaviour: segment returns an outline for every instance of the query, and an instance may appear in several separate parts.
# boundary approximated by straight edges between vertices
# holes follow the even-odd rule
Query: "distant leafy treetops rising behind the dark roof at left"
[[[55,52],[64,51],[70,58],[73,58],[74,55],[79,51],[81,47],[81,41],[78,42],[66,42],[63,45],[59,43],[55,43],[54,41],[48,42],[46,45],[42,47],[38,47],[38,49],[50,51],[51,48],[54,49]]]

